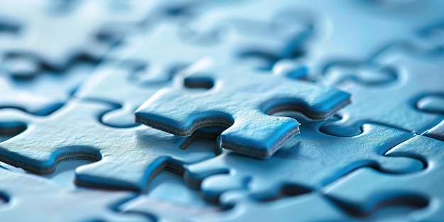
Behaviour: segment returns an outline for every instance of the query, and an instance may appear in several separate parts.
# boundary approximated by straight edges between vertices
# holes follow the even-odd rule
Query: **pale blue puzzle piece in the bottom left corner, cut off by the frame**
[[[70,190],[27,174],[0,168],[0,217],[6,221],[149,221],[116,211],[130,192]]]

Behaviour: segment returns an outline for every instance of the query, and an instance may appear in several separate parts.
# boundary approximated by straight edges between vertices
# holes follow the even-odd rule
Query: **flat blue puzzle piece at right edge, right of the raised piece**
[[[444,116],[418,110],[416,103],[423,96],[443,94],[444,56],[425,57],[410,50],[387,49],[368,63],[381,67],[375,72],[396,71],[396,82],[382,86],[351,84],[341,89],[353,95],[353,104],[340,111],[343,119],[328,123],[323,132],[350,136],[361,132],[363,123],[378,123],[404,131],[422,133],[435,126]],[[338,62],[326,70],[326,75],[350,63]],[[355,65],[367,67],[366,62]]]

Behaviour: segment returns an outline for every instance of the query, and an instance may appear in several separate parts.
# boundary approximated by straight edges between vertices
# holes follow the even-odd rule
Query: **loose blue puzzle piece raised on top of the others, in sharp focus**
[[[223,148],[270,157],[299,133],[299,123],[268,114],[295,110],[324,119],[350,103],[349,94],[333,88],[245,67],[202,64],[184,71],[185,80],[189,84],[213,82],[212,89],[200,93],[183,87],[159,91],[135,112],[135,120],[182,136],[205,126],[226,126],[221,134]]]

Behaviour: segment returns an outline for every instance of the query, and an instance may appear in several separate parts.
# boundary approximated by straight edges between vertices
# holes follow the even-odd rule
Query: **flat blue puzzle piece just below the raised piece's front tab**
[[[364,166],[383,172],[407,173],[423,169],[421,161],[384,155],[410,133],[366,124],[364,133],[350,138],[320,133],[323,121],[301,121],[304,133],[289,140],[270,160],[226,152],[187,167],[189,184],[199,187],[206,199],[216,200],[232,189],[252,194],[276,192],[283,184],[304,184],[319,189]]]

